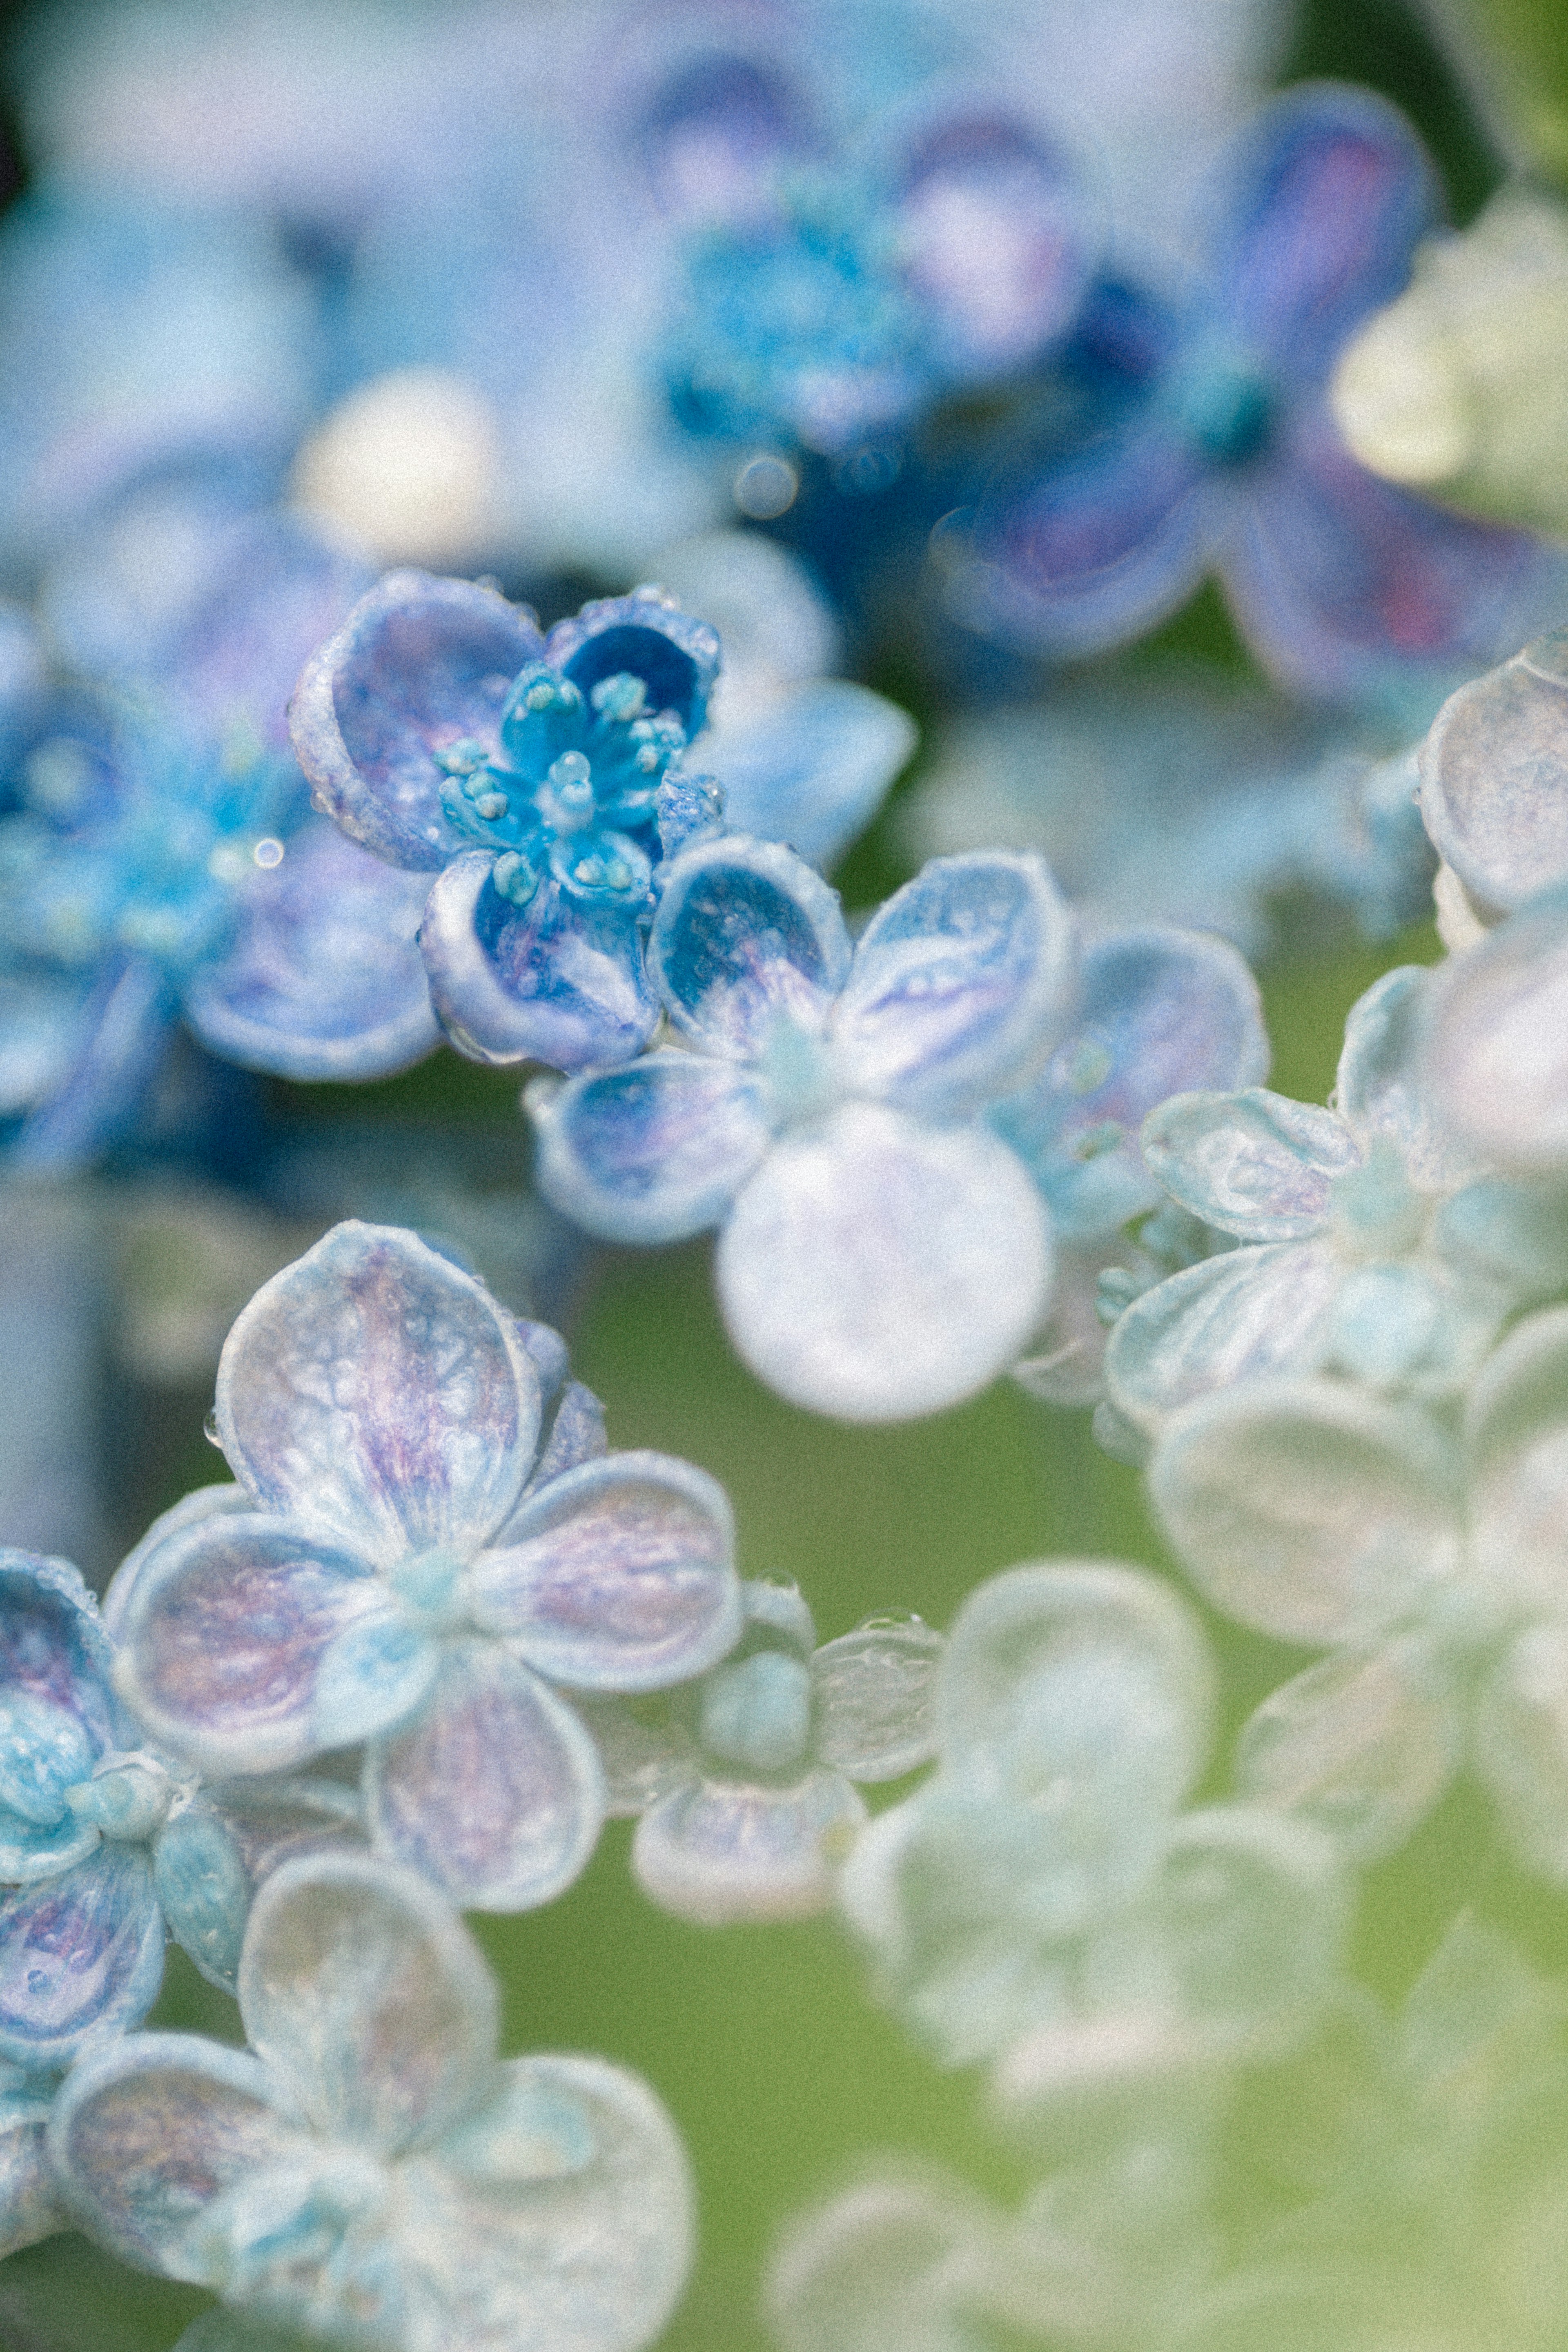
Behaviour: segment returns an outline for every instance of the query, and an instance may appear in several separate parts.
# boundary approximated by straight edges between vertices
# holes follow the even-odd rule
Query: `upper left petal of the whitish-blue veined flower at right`
[[[1267,1087],[1175,1094],[1143,1122],[1143,1157],[1166,1192],[1244,1242],[1291,1242],[1328,1223],[1331,1183],[1361,1167],[1333,1110]]]

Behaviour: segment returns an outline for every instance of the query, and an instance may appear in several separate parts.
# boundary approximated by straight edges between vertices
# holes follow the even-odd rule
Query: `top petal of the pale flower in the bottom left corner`
[[[252,1907],[240,2016],[289,2105],[381,2154],[454,2124],[496,2063],[496,1983],[423,1879],[369,1853],[284,1863]]]

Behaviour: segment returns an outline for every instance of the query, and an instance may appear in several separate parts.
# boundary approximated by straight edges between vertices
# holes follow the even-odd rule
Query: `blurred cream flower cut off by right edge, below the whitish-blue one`
[[[1387,1853],[1469,1766],[1568,1879],[1568,1310],[1526,1317],[1443,1423],[1328,1381],[1248,1381],[1166,1430],[1154,1508],[1199,1590],[1328,1646],[1253,1715],[1244,1785]]]

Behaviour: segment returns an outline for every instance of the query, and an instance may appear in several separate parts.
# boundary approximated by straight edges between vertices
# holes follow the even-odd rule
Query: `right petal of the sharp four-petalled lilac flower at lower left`
[[[607,1454],[512,1512],[463,1602],[482,1632],[583,1691],[663,1691],[736,1646],[741,1583],[729,1498],[668,1454]]]

